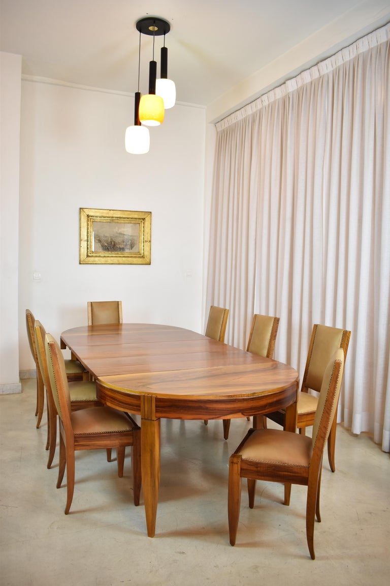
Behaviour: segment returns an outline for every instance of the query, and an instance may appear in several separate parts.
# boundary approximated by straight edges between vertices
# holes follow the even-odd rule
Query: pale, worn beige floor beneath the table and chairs
[[[324,458],[322,523],[316,560],[306,545],[306,488],[258,483],[255,508],[245,485],[237,544],[227,530],[227,463],[250,424],[163,421],[156,536],[146,535],[144,507],[132,504],[125,475],[105,451],[77,452],[71,513],[56,489],[58,454],[46,468],[46,421],[37,430],[35,381],[0,397],[2,586],[334,585],[390,583],[390,461],[366,435],[339,425],[336,473]],[[65,483],[65,482],[64,482]]]

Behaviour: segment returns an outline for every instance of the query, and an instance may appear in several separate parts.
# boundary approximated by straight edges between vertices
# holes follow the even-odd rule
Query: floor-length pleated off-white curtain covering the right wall
[[[303,372],[313,323],[351,330],[339,418],[390,451],[390,25],[217,124],[207,305],[246,347],[280,317]]]

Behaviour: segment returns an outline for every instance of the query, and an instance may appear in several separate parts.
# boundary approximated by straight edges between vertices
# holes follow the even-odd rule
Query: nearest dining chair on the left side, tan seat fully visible
[[[60,488],[66,468],[68,514],[73,500],[75,452],[78,450],[116,448],[118,476],[123,476],[125,447],[132,447],[134,505],[139,505],[141,489],[140,427],[129,416],[111,407],[90,407],[71,411],[70,392],[60,346],[47,333],[45,352],[50,387],[60,419],[60,464],[57,488]]]

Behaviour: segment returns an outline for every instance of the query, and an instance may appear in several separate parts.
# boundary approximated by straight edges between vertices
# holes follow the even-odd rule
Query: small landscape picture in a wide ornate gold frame
[[[151,212],[80,208],[80,264],[150,264]]]

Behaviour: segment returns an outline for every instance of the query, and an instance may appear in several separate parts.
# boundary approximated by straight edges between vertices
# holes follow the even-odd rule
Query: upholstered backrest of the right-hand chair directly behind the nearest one
[[[301,391],[307,393],[308,389],[313,389],[320,392],[323,374],[334,352],[339,348],[343,349],[344,360],[346,359],[350,336],[351,332],[348,330],[330,328],[315,323]]]

